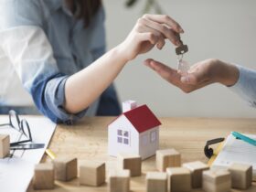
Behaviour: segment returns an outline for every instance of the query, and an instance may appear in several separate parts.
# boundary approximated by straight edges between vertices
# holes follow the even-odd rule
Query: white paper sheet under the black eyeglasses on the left
[[[34,143],[45,144],[45,148],[33,150],[11,150],[13,157],[0,159],[0,191],[25,192],[34,174],[34,166],[39,163],[54,133],[56,124],[45,117],[23,116],[29,124]],[[0,123],[8,123],[7,116],[0,116]],[[5,131],[4,131],[5,130]],[[0,127],[0,133],[6,129]],[[12,138],[13,136],[10,135]]]

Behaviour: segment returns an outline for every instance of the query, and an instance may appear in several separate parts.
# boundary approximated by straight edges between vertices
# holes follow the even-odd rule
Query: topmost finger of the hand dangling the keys
[[[183,28],[180,27],[180,25],[170,16],[146,14],[144,15],[144,18],[155,21],[160,24],[165,24],[166,26],[174,29],[176,33],[184,33]]]

